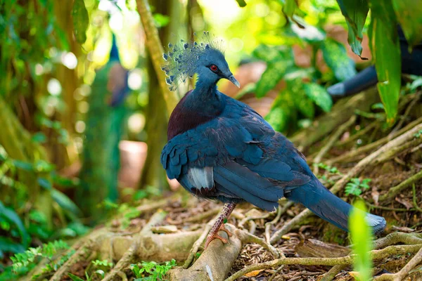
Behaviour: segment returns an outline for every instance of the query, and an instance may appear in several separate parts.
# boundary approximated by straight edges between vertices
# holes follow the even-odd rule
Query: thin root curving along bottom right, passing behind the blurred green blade
[[[381,250],[372,250],[370,251],[371,258],[378,260],[384,259],[386,257],[397,255],[397,254],[407,254],[415,253],[422,248],[422,244],[416,245],[396,245],[389,246]],[[302,266],[347,266],[353,263],[353,260],[356,255],[352,254],[349,256],[342,256],[339,258],[285,258],[285,259],[275,259],[274,261],[267,261],[265,263],[257,263],[252,266],[247,266],[242,270],[234,273],[225,281],[234,281],[238,277],[250,273],[253,270],[262,270],[275,268],[281,265],[302,265]]]

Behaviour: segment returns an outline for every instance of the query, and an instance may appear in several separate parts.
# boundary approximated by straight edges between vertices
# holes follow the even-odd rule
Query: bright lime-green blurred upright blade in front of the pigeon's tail
[[[349,227],[352,237],[352,249],[356,257],[353,260],[354,270],[359,272],[360,281],[372,280],[372,259],[369,251],[372,248],[372,233],[366,219],[366,208],[362,201],[356,202],[350,214]]]

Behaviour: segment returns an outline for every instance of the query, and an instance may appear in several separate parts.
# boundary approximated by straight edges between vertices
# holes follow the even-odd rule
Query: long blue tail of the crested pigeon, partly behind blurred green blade
[[[299,202],[310,209],[316,216],[333,223],[339,228],[349,231],[349,214],[352,205],[333,195],[316,178],[286,194],[289,200]],[[366,222],[372,227],[373,233],[381,233],[385,228],[385,218],[366,214]]]

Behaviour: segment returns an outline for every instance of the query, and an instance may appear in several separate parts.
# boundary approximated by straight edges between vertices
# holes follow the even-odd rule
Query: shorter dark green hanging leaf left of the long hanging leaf
[[[368,15],[369,6],[367,0],[337,0],[341,13],[345,16],[348,29],[348,38],[353,53],[362,54],[362,30]],[[362,57],[361,57],[362,58]]]

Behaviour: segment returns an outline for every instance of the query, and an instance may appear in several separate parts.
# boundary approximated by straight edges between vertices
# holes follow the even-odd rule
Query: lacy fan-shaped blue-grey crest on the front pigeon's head
[[[196,34],[194,34],[196,35]],[[167,53],[162,54],[166,61],[161,70],[167,75],[165,81],[170,91],[175,91],[180,83],[192,78],[198,66],[198,59],[210,50],[222,51],[222,40],[214,39],[209,32],[203,32],[201,41],[184,41],[178,44],[169,43]]]

